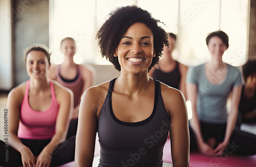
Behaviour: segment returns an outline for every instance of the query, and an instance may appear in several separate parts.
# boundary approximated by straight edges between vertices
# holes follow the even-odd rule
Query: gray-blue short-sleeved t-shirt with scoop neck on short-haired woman
[[[210,84],[206,79],[204,64],[202,64],[189,67],[186,82],[197,85],[197,114],[199,120],[205,123],[226,123],[227,97],[233,87],[242,84],[240,70],[227,64],[225,80],[215,85]]]

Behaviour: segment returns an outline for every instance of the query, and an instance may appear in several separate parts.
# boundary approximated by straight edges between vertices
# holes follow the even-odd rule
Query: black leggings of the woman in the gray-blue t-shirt
[[[216,146],[218,143],[223,142],[226,124],[206,124],[200,123],[201,133],[203,139],[207,142],[208,138],[214,137],[216,139]],[[190,135],[190,152],[197,150],[196,136],[193,129],[189,125],[189,135]],[[253,155],[256,154],[256,135],[241,131],[239,129],[234,129],[230,137],[228,146],[225,150],[227,154],[237,154],[237,155]]]

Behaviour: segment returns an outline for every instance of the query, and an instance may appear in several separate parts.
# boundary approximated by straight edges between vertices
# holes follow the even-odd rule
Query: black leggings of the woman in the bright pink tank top
[[[58,147],[53,151],[51,166],[58,166],[74,160],[75,140],[76,137],[72,136],[65,142],[58,145]],[[28,140],[20,138],[20,141],[22,141],[22,143],[27,146],[35,156],[37,156],[51,140]],[[22,157],[18,151],[11,146],[8,146],[8,162],[5,162],[5,155],[7,154],[6,150],[4,149],[5,142],[0,141],[0,148],[0,165],[6,167],[23,166]]]

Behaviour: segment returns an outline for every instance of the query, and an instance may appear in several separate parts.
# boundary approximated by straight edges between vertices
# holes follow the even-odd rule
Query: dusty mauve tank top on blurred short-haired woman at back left
[[[74,93],[74,107],[76,107],[80,101],[82,96],[82,90],[83,90],[83,80],[82,80],[82,74],[79,65],[77,65],[77,72],[78,75],[75,79],[72,81],[65,81],[61,78],[60,75],[60,65],[58,65],[56,70],[56,80],[63,86],[71,89]]]

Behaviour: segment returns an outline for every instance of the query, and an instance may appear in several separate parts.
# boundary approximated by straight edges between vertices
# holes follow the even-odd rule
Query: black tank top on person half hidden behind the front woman
[[[181,78],[179,71],[179,63],[176,61],[175,69],[170,72],[163,72],[160,69],[155,69],[155,71],[153,72],[153,78],[163,82],[164,84],[170,87],[179,89]]]

